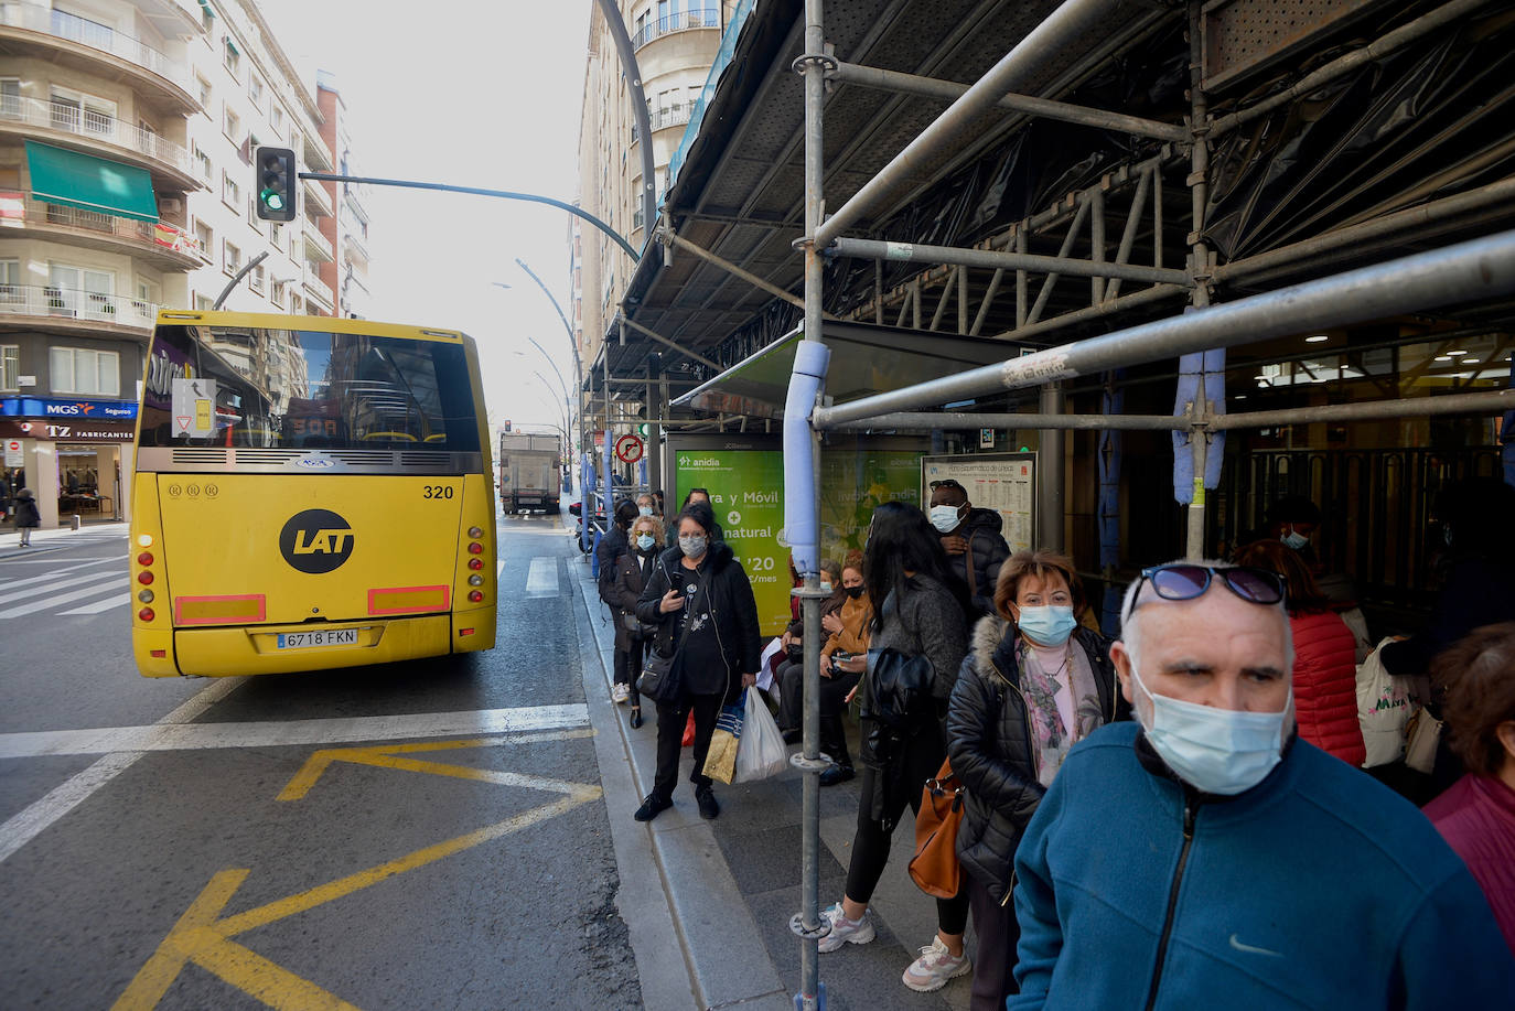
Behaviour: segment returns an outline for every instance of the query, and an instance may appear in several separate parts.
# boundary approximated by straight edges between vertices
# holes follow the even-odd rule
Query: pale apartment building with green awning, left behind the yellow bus
[[[253,152],[330,171],[326,129],[250,0],[0,5],[0,506],[127,517],[159,308],[209,309],[267,253],[224,308],[342,311],[330,183],[288,224],[255,209]]]

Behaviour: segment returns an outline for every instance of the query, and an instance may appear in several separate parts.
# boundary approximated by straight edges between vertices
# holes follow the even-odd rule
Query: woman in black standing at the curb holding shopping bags
[[[661,626],[653,649],[674,658],[671,678],[679,685],[676,702],[658,703],[658,773],[653,791],[636,809],[638,822],[651,822],[673,806],[683,725],[691,711],[694,799],[701,819],[721,812],[704,775],[704,756],[721,706],[758,681],[762,662],[758,602],[747,571],[726,541],[715,537],[717,529],[708,503],[689,503],[674,524],[677,546],[658,556],[636,602],[636,617]]]

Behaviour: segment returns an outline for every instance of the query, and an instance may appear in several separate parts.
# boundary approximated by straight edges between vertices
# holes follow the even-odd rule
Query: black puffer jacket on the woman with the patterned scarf
[[[979,621],[947,709],[947,756],[968,790],[957,858],[995,902],[1009,894],[1015,847],[1047,793],[1036,775],[1015,641],[1011,623],[1000,615]],[[1089,659],[1106,721],[1126,718],[1110,641],[1083,626],[1073,641]]]

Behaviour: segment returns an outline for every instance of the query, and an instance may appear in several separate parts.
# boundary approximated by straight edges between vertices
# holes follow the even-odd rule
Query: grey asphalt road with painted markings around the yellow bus
[[[0,552],[0,1006],[639,1008],[553,517],[482,655],[153,681],[126,537]]]

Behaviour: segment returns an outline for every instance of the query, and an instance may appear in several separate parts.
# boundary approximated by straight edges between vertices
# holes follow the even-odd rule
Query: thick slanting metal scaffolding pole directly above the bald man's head
[[[1053,379],[1164,361],[1185,352],[1238,347],[1304,329],[1347,326],[1509,294],[1515,294],[1515,230],[1154,320],[851,403],[817,408],[814,424],[824,429],[838,421],[1039,387]]]

